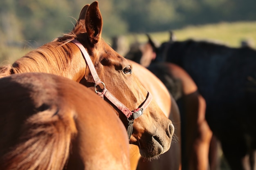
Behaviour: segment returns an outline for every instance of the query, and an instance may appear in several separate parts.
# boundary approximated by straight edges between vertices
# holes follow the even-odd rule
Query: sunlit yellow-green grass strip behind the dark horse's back
[[[256,21],[187,26],[183,29],[172,31],[176,40],[186,40],[188,38],[213,40],[232,47],[239,47],[241,40],[250,40],[254,42],[254,47],[256,47]],[[169,38],[168,31],[149,34],[158,42],[167,41]],[[134,35],[128,35],[127,38],[129,41],[133,41]],[[146,42],[147,40],[145,35],[137,35],[137,38],[139,42]]]

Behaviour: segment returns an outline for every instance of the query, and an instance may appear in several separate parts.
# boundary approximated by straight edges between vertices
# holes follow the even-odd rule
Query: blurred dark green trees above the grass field
[[[103,37],[256,20],[256,0],[98,0]],[[40,46],[73,28],[93,0],[1,0],[0,46]]]

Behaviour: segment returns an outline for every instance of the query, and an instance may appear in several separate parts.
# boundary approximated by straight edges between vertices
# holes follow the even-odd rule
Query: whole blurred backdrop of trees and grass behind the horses
[[[0,64],[52,41],[73,28],[82,7],[93,0],[1,0]],[[99,0],[103,38],[123,35],[128,43],[145,33],[162,42],[213,39],[240,46],[256,40],[255,0]]]

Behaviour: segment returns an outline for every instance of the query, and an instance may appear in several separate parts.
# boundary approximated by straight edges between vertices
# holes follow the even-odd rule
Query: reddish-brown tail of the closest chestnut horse
[[[4,155],[0,169],[62,170],[77,133],[74,116],[66,113],[50,109],[27,119],[18,145]]]

